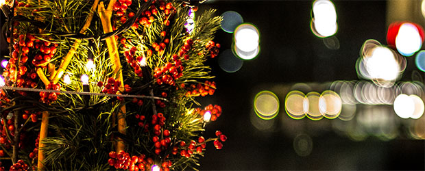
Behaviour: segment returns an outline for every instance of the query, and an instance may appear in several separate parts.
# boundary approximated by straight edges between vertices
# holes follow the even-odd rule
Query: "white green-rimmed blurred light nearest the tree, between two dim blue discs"
[[[234,43],[241,51],[250,52],[258,47],[260,34],[258,29],[251,24],[241,24],[234,31]]]

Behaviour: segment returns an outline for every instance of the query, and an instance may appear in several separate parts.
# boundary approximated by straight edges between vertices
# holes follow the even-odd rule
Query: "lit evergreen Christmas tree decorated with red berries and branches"
[[[199,1],[6,0],[0,156],[10,170],[196,170],[219,105]],[[5,46],[5,44],[2,44]],[[1,166],[4,170],[5,164]]]

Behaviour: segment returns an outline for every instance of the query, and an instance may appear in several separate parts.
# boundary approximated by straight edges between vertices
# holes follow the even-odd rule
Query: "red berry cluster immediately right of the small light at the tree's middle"
[[[175,86],[175,80],[183,76],[182,61],[175,59],[173,64],[167,62],[165,66],[161,68],[156,67],[154,69],[154,77],[156,78],[156,83],[161,85],[166,83],[170,86]]]

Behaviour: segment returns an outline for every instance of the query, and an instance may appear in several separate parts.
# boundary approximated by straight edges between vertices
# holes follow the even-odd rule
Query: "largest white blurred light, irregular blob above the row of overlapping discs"
[[[386,47],[376,47],[365,64],[367,73],[373,79],[395,80],[400,73],[400,66],[394,54]]]

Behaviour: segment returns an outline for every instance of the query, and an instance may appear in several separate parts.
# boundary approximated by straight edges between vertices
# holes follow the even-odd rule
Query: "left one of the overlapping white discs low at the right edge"
[[[396,97],[393,107],[400,118],[410,118],[415,111],[415,101],[406,94],[400,94]]]

